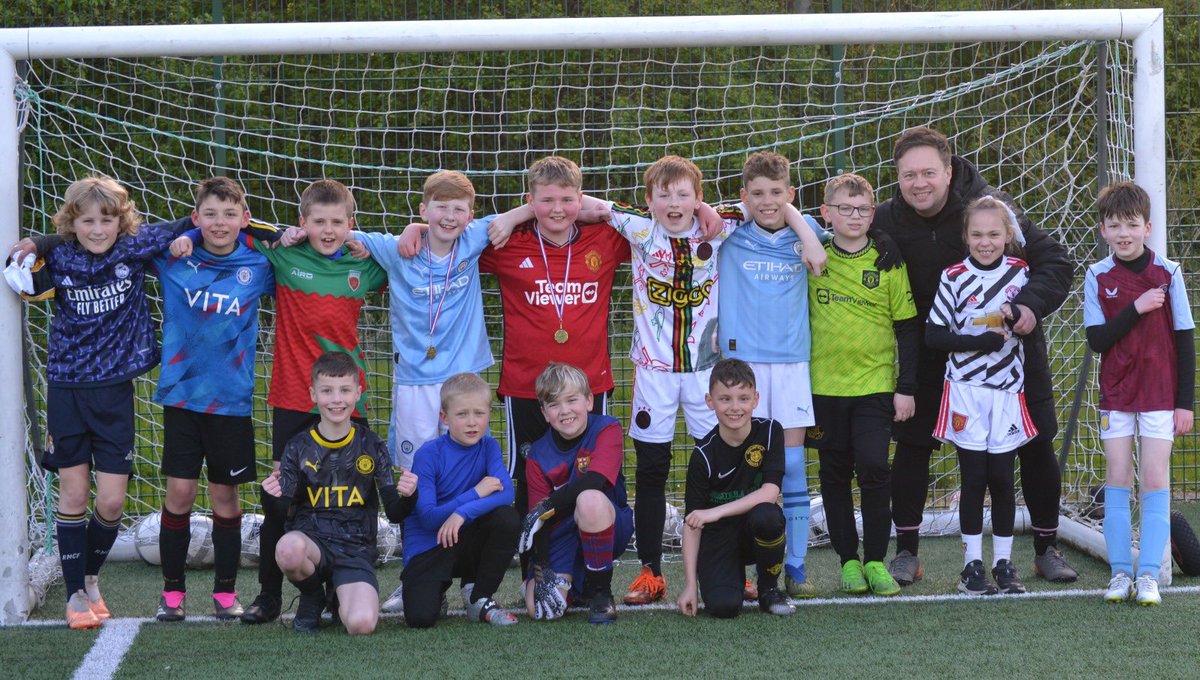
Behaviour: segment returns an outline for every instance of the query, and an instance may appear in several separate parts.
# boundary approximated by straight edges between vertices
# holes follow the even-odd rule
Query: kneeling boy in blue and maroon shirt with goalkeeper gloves
[[[592,387],[578,368],[551,363],[535,389],[550,431],[526,461],[530,510],[521,549],[534,549],[526,607],[535,619],[557,619],[574,595],[588,602],[588,622],[611,624],[612,561],[634,534],[620,471],[624,433],[616,419],[589,413]],[[548,529],[538,532],[544,522]]]

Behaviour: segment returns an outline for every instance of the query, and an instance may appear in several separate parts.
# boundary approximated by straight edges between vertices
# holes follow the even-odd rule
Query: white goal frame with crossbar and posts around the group
[[[455,50],[1132,41],[1134,179],[1166,225],[1162,10],[779,14],[0,29],[0,246],[20,236],[18,62],[43,59]],[[1166,252],[1165,229],[1151,246]],[[0,624],[30,613],[22,302],[0,295]]]

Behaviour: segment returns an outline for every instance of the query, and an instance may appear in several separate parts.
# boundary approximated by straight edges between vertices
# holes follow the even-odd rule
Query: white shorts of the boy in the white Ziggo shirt
[[[716,427],[716,414],[704,403],[712,368],[670,373],[638,366],[634,371],[632,417],[629,437],[650,444],[674,441],[674,426],[683,408],[688,434],[701,439]]]

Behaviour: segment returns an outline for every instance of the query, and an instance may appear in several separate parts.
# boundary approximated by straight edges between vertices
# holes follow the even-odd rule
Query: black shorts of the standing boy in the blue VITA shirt
[[[209,481],[242,485],[258,479],[254,465],[254,422],[250,416],[203,414],[162,408],[162,474],[199,480],[204,462]]]

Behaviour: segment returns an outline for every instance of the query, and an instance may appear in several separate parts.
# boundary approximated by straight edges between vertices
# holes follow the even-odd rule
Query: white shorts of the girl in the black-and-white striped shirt
[[[968,451],[1007,453],[1037,435],[1024,392],[946,380],[935,439]]]

